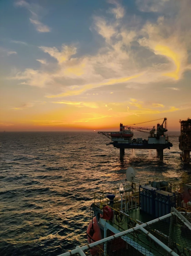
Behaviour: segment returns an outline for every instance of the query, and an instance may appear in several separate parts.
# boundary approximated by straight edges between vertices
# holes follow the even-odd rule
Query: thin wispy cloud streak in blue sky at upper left
[[[42,10],[42,7],[40,5],[28,3],[24,0],[19,0],[16,2],[16,6],[24,7],[30,11],[31,18],[29,18],[29,20],[38,32],[46,33],[51,31],[51,28],[49,26],[44,25],[41,21],[39,21],[40,12]]]

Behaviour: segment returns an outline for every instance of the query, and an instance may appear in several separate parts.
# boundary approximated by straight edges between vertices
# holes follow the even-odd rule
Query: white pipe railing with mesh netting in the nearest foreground
[[[191,214],[174,213],[171,217],[153,220],[152,224],[148,222],[135,227],[136,222],[132,222],[134,228],[130,227],[130,230],[119,233],[116,235],[117,238],[107,229],[105,242],[102,239],[81,248],[87,256],[170,256],[172,251],[180,256],[191,256],[190,220]],[[88,247],[89,249],[86,249]],[[70,255],[82,256],[82,254],[70,252]]]

